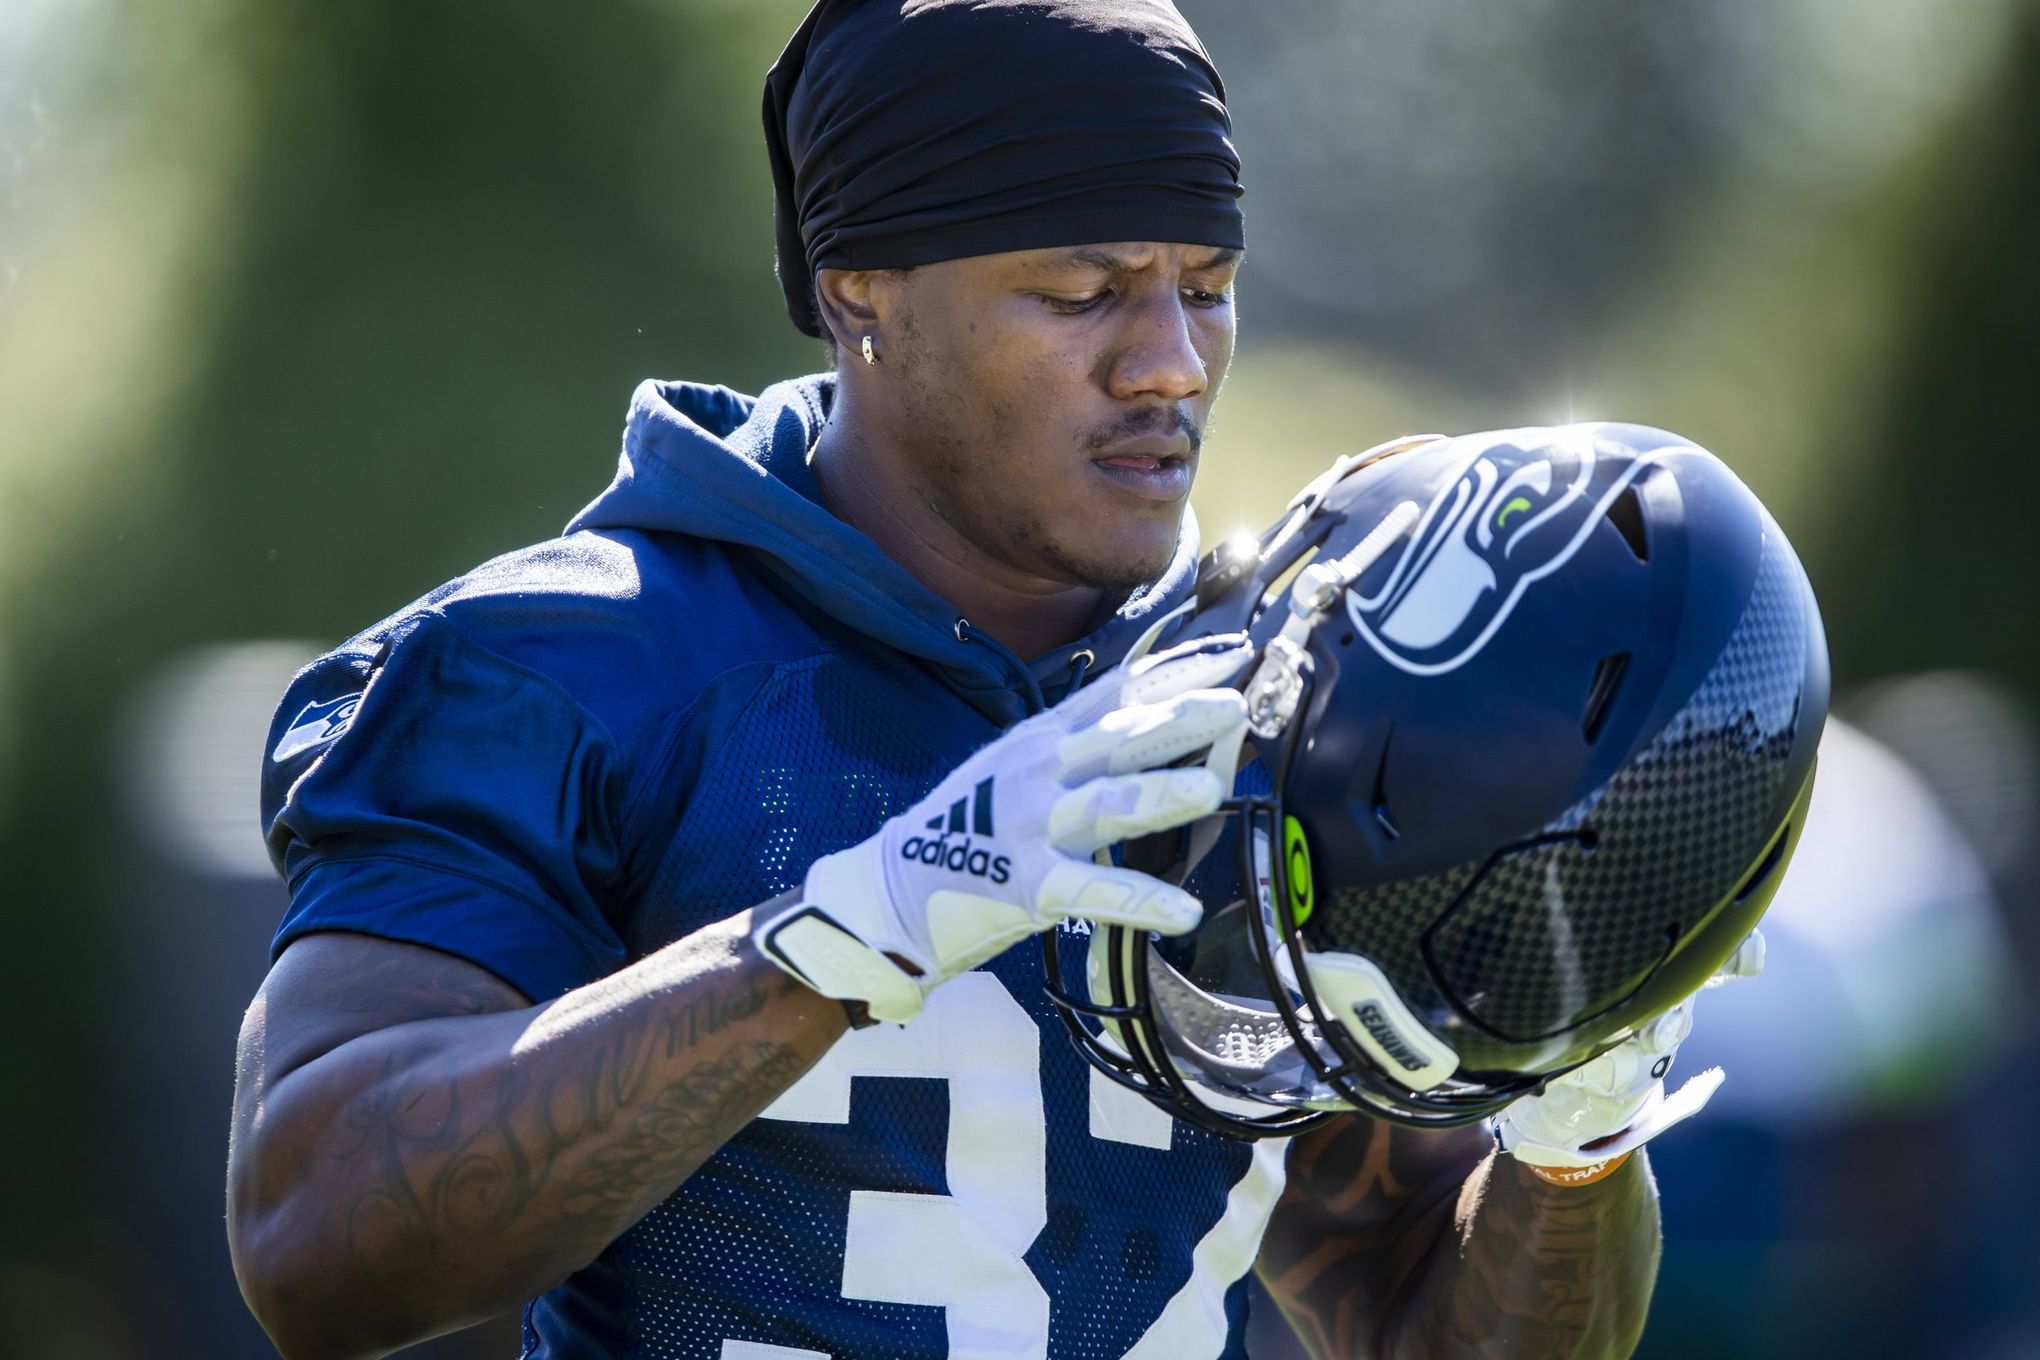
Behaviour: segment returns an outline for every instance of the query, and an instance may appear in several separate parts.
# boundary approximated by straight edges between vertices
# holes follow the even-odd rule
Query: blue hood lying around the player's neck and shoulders
[[[983,636],[959,636],[957,610],[871,538],[822,506],[808,451],[836,394],[830,373],[773,383],[749,398],[704,383],[641,383],[630,400],[616,481],[567,524],[692,534],[747,551],[798,597],[896,650],[920,657],[993,722],[1057,699],[1071,657],[1118,661],[1140,632],[1189,593],[1197,522],[1187,510],[1175,557],[1069,646],[1032,663]]]

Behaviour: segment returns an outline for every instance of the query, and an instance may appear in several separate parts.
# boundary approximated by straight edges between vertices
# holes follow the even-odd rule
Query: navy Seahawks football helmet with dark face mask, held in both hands
[[[1340,459],[1151,638],[1216,632],[1257,644],[1251,763],[1218,816],[1122,848],[1204,922],[1042,948],[1083,1056],[1220,1134],[1495,1113],[1697,991],[1805,820],[1814,591],[1663,430]]]

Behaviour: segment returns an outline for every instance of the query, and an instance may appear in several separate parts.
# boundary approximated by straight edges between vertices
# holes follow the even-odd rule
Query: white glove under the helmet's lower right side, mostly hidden
[[[1765,966],[1765,938],[1742,942],[1707,987],[1754,977]],[[1589,1179],[1603,1162],[1644,1146],[1673,1123],[1697,1115],[1722,1085],[1722,1068],[1710,1066],[1673,1095],[1665,1095],[1679,1044],[1693,1032],[1693,997],[1654,1019],[1636,1026],[1626,1040],[1563,1077],[1552,1077],[1534,1095],[1524,1095],[1495,1115],[1493,1132],[1501,1150],[1557,1179],[1581,1172]],[[1552,1179],[1552,1176],[1546,1176]]]

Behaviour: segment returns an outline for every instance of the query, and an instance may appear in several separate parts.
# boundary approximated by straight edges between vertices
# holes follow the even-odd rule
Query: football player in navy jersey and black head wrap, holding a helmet
[[[1265,697],[1251,620],[1118,665],[1197,587],[1234,336],[1238,161],[1191,31],[1165,0],[822,0],[765,122],[834,373],[643,385],[563,538],[277,710],[292,901],[228,1236],[282,1354],[522,1305],[547,1358],[1240,1356],[1257,1258],[1322,1354],[1626,1354],[1671,1028],[1455,1079],[1516,1099],[1508,1152],[1393,1123],[1310,1042],[1330,1075],[1275,1123],[1383,1117],[1236,1138],[1295,1130],[1200,1113],[1263,1087],[1130,1091],[1116,1058],[1175,1062],[1136,1005],[1075,1011],[1087,1062],[1032,946],[1197,928],[1110,848],[1228,816]],[[1614,1077],[1554,1066],[1608,1044]]]

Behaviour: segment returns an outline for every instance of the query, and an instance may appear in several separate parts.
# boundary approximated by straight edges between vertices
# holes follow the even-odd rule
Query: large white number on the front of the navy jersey
[[[1049,1221],[1040,1030],[998,977],[965,973],[930,993],[912,1024],[847,1036],[763,1117],[849,1123],[857,1077],[949,1083],[949,1195],[853,1191],[843,1295],[945,1309],[951,1360],[1044,1358],[1049,1291],[1024,1260]],[[1091,1081],[1089,1128],[1093,1138],[1169,1146],[1169,1117],[1102,1077]],[[1281,1179],[1281,1144],[1259,1144],[1197,1242],[1189,1280],[1126,1360],[1191,1360],[1224,1348],[1224,1293],[1253,1264]],[[722,1354],[814,1352],[732,1342]]]

